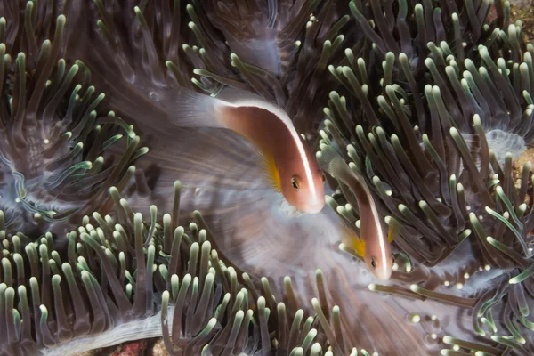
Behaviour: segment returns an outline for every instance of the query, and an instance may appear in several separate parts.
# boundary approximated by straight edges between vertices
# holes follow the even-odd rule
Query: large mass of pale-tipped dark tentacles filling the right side
[[[330,93],[322,133],[323,150],[339,150],[366,178],[386,223],[394,216],[403,225],[393,284],[369,289],[471,312],[467,340],[443,330],[436,343],[530,354],[532,184],[530,163],[514,184],[513,159],[534,137],[534,47],[523,43],[520,21],[508,23],[507,3],[489,23],[489,2],[396,4],[394,17],[391,4],[352,1],[372,46],[329,67],[349,96]],[[358,232],[358,204],[344,184],[328,202]],[[477,334],[487,338],[473,343]]]

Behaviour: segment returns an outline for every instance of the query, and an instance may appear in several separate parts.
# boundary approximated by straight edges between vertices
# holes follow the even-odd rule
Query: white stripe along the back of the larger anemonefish
[[[249,98],[243,98],[241,100],[235,101],[235,102],[229,102],[226,101],[231,107],[234,108],[240,108],[240,107],[256,107],[260,109],[265,109],[271,114],[275,115],[276,117],[279,117],[279,119],[286,125],[287,129],[289,130],[289,133],[291,134],[291,138],[295,141],[296,148],[298,150],[298,154],[300,158],[302,159],[303,166],[304,166],[304,172],[306,174],[306,180],[309,182],[309,188],[310,192],[312,194],[312,202],[313,204],[319,204],[320,199],[318,197],[317,193],[317,187],[315,186],[315,181],[313,180],[313,174],[312,174],[312,167],[310,166],[310,161],[308,159],[308,156],[306,155],[306,150],[304,149],[303,142],[298,135],[298,133],[295,130],[295,126],[293,125],[293,122],[291,119],[287,116],[286,111],[284,109],[281,109],[277,105],[273,105],[269,102],[262,101],[262,100],[255,100],[255,99],[249,99]],[[317,172],[316,172],[317,174]]]

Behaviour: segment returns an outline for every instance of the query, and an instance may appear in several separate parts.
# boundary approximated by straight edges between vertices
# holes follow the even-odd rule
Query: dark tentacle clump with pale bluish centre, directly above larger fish
[[[276,102],[287,111],[297,130],[313,141],[320,120],[317,103],[326,97],[325,87],[336,86],[335,81],[325,77],[327,63],[342,59],[339,48],[345,40],[356,42],[360,37],[345,30],[350,17],[343,15],[336,2],[280,3],[273,26],[267,29],[265,24],[272,20],[271,2],[251,4],[189,8],[190,12],[198,12],[198,16],[191,16],[191,28],[202,28],[206,33],[220,29],[226,40],[223,43],[217,36],[209,36],[219,51],[205,48],[206,55],[193,61],[200,63],[194,73],[201,81],[193,80],[210,93],[216,93],[220,85],[230,85]],[[199,43],[207,41],[202,31],[195,31],[195,35]],[[209,56],[214,55],[223,56],[221,61],[228,62],[226,67],[211,65]]]

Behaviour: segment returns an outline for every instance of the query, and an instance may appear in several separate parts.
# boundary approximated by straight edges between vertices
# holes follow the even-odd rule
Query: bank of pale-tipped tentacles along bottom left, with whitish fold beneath
[[[320,355],[327,344],[336,354],[351,352],[339,308],[330,311],[324,299],[321,271],[316,314],[305,317],[290,278],[283,303],[267,279],[238,276],[223,263],[198,211],[185,233],[178,225],[181,189],[174,182],[171,214],[160,220],[150,206],[150,223],[143,223],[112,187],[116,218],[85,216],[68,232],[64,253],[49,232],[26,246],[16,236],[4,243],[0,354],[60,355],[162,334],[174,355]]]

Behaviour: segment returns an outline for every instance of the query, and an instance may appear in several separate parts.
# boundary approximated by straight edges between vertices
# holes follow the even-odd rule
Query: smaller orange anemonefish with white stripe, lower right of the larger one
[[[343,182],[354,193],[360,210],[360,237],[354,231],[343,227],[342,241],[352,247],[363,258],[377,279],[387,280],[392,275],[393,256],[390,248],[392,240],[401,229],[399,221],[391,219],[386,236],[375,200],[364,178],[354,172],[344,159],[330,147],[320,152],[320,162],[324,170]]]

